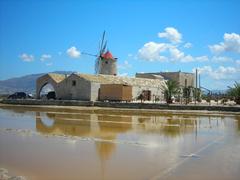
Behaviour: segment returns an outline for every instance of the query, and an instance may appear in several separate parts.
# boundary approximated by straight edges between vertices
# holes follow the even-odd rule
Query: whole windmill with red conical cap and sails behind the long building
[[[105,40],[105,31],[99,45],[99,53],[92,55],[89,53],[82,53],[96,57],[95,60],[95,74],[117,75],[117,58],[114,58],[109,50],[106,51],[107,41]]]

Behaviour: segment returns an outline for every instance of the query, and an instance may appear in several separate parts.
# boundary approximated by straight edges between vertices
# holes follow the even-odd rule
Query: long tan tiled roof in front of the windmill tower
[[[112,75],[75,74],[87,81],[101,84],[126,84],[131,86],[161,87],[165,81],[160,79],[122,77]]]

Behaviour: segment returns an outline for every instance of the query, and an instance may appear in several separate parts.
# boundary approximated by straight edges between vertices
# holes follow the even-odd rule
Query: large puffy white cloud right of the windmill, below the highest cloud
[[[148,42],[138,50],[138,56],[140,59],[147,61],[166,61],[167,58],[162,56],[161,53],[165,52],[169,48],[169,44]]]

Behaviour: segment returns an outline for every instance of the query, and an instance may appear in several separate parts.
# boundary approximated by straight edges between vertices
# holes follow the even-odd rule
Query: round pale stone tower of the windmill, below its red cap
[[[101,59],[99,74],[117,75],[117,61],[113,59]]]

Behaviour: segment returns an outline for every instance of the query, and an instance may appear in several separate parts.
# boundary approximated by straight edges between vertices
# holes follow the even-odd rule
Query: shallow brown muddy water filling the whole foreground
[[[0,168],[33,180],[237,180],[240,117],[0,107]]]

